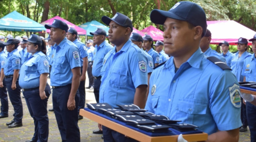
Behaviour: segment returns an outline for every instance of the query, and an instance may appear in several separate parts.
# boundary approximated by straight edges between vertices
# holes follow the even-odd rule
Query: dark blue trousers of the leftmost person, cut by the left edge
[[[1,115],[8,115],[9,106],[5,78],[3,79],[3,86],[3,88],[0,87]]]

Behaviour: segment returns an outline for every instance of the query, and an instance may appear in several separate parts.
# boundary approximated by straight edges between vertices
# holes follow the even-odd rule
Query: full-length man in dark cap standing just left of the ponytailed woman
[[[4,43],[6,45],[7,55],[6,63],[4,64],[4,75],[7,91],[10,101],[14,108],[14,119],[6,123],[8,128],[22,126],[23,109],[20,98],[19,71],[20,71],[20,54],[18,46],[20,41],[17,39],[9,39]],[[1,86],[1,85],[0,85]]]

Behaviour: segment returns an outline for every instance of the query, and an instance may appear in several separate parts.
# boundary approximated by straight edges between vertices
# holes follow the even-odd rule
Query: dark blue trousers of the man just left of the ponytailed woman
[[[6,83],[10,101],[14,108],[13,120],[16,123],[22,123],[23,108],[22,108],[22,102],[21,102],[21,98],[20,98],[20,89],[21,88],[19,85],[19,78],[16,81],[16,89],[15,90],[12,90],[12,77],[5,78],[5,83]]]

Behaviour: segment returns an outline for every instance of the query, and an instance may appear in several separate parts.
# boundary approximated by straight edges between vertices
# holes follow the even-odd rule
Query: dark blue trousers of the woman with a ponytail
[[[26,103],[28,105],[28,111],[30,116],[34,119],[35,132],[33,140],[38,142],[47,142],[49,135],[49,119],[47,115],[47,101],[51,94],[51,88],[48,84],[45,87],[46,99],[41,100],[39,95],[39,89],[31,91],[23,91]]]

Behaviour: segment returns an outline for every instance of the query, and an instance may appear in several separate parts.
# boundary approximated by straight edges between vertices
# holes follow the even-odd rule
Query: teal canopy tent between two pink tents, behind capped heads
[[[86,30],[86,35],[87,36],[92,36],[90,34],[90,32],[95,32],[97,30],[97,28],[101,28],[101,29],[104,29],[107,33],[107,36],[108,36],[108,27],[101,24],[100,22],[98,21],[95,21],[95,20],[92,20],[91,22],[86,22],[82,25],[80,25],[79,27],[83,28],[84,30]]]

